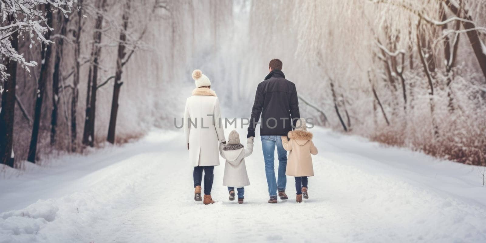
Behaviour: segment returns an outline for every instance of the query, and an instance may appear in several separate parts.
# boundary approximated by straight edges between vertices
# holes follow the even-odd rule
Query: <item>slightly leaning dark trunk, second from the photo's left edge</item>
[[[44,4],[44,8],[46,10],[46,18],[47,18],[47,25],[52,26],[52,10],[51,4],[46,3]],[[48,30],[47,34],[45,35],[46,39],[51,38],[52,31]],[[39,126],[40,126],[40,113],[42,111],[42,101],[44,99],[44,89],[47,83],[47,74],[49,71],[49,65],[51,63],[51,52],[52,52],[52,45],[48,45],[46,43],[42,43],[41,45],[41,58],[42,64],[40,67],[40,75],[37,81],[37,97],[35,99],[35,112],[34,112],[34,125],[32,128],[32,137],[29,147],[29,155],[27,160],[35,163],[35,155],[37,153],[37,139],[39,137]]]

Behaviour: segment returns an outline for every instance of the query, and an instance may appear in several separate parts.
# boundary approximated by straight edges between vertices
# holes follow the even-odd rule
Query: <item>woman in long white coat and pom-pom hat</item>
[[[216,93],[211,90],[211,82],[201,70],[192,72],[196,88],[186,100],[184,112],[184,132],[186,133],[189,161],[194,166],[194,200],[201,201],[201,182],[204,171],[204,201],[214,203],[211,198],[214,166],[219,165],[218,142],[226,144],[221,111]]]

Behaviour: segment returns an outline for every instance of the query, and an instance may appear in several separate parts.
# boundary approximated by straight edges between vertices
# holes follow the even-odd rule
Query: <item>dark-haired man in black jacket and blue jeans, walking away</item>
[[[255,137],[255,128],[260,119],[260,136],[265,174],[267,177],[268,203],[277,203],[277,191],[281,200],[288,199],[285,194],[287,177],[287,151],[283,149],[280,136],[287,136],[300,118],[299,103],[295,84],[286,80],[282,72],[282,62],[272,59],[268,67],[270,73],[257,87],[255,103],[251,112],[247,138]],[[278,179],[275,179],[275,147],[278,154]]]

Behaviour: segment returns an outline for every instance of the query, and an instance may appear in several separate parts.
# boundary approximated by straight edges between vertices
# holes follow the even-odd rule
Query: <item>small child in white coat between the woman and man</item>
[[[235,188],[238,190],[238,203],[244,199],[244,187],[250,185],[244,158],[253,152],[253,137],[246,141],[246,148],[240,143],[240,135],[235,130],[229,133],[228,142],[219,144],[219,152],[226,159],[223,186],[228,187],[229,200],[235,200]]]

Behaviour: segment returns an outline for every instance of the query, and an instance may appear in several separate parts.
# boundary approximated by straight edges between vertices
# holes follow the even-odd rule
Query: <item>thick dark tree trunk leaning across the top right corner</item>
[[[443,2],[449,7],[451,12],[456,15],[457,17],[461,17],[461,13],[457,6],[451,3],[450,0],[443,0]],[[462,8],[464,12],[464,17],[465,19],[468,19],[471,22],[463,22],[463,26],[465,30],[469,30],[466,32],[469,38],[469,43],[471,43],[472,50],[474,51],[474,54],[476,55],[476,59],[478,59],[479,66],[481,67],[481,70],[483,71],[483,75],[485,76],[485,82],[486,82],[486,50],[483,50],[483,41],[479,38],[479,32],[475,29],[477,26],[472,23],[472,17],[469,15],[469,10]]]

